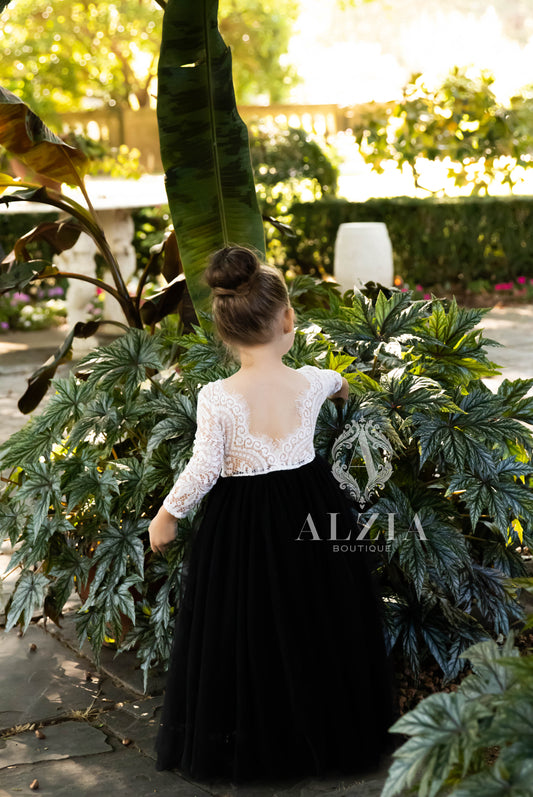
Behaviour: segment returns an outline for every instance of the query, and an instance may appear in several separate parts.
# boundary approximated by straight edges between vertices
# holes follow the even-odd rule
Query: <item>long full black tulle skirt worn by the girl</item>
[[[239,783],[378,765],[392,676],[356,523],[318,455],[218,479],[191,546],[157,769]],[[339,540],[352,531],[348,550],[332,524]]]

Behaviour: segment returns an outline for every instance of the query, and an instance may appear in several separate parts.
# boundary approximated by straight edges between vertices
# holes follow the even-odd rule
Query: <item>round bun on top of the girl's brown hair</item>
[[[211,256],[205,279],[215,296],[245,295],[260,268],[257,255],[250,249],[225,246]]]

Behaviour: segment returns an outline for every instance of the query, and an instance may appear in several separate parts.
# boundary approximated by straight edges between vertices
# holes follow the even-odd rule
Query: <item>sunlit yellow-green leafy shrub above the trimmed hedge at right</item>
[[[455,67],[433,89],[422,75],[413,75],[401,100],[377,114],[369,111],[354,127],[365,160],[379,174],[386,161],[407,165],[417,188],[426,188],[424,160],[448,159],[448,177],[457,187],[488,193],[499,178],[512,189],[518,181],[515,168],[533,163],[532,103],[515,97],[504,107],[493,82],[488,72],[472,78]]]

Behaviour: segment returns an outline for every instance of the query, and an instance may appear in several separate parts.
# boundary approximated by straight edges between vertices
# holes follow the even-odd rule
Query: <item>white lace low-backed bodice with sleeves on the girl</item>
[[[193,455],[163,506],[184,517],[222,476],[250,476],[305,465],[315,456],[313,437],[320,407],[340,390],[337,371],[304,365],[298,369],[309,384],[296,399],[300,425],[281,440],[252,434],[243,396],[230,392],[221,379],[198,393]]]

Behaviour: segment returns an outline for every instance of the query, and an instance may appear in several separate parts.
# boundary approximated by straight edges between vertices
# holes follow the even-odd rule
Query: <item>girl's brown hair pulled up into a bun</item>
[[[225,343],[268,343],[276,319],[290,307],[281,273],[263,265],[244,246],[226,246],[211,255],[205,280],[213,291],[213,318]]]

